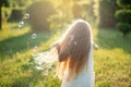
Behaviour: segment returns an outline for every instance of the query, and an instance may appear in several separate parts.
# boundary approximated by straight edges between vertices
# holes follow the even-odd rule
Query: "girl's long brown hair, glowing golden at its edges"
[[[75,21],[63,38],[56,45],[58,52],[58,74],[68,72],[67,80],[71,80],[87,66],[92,44],[91,26],[86,21]]]

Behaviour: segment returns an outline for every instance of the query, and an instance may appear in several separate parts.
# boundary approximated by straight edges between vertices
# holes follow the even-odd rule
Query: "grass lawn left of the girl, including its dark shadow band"
[[[9,26],[16,25],[9,24]],[[4,32],[7,34],[3,34]],[[53,72],[44,76],[41,71],[34,67],[32,54],[49,49],[58,34],[35,33],[36,36],[33,38],[34,33],[29,33],[28,27],[4,28],[0,34],[0,37],[4,37],[0,40],[0,87],[39,87],[40,85],[50,87],[48,83],[52,85],[55,83],[52,87],[57,87],[59,84],[57,77],[50,77],[53,76]]]

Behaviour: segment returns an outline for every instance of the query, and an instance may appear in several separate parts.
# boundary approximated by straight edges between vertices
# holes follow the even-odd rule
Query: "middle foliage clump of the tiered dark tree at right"
[[[118,22],[131,24],[131,10],[118,10],[116,11],[116,17]]]

